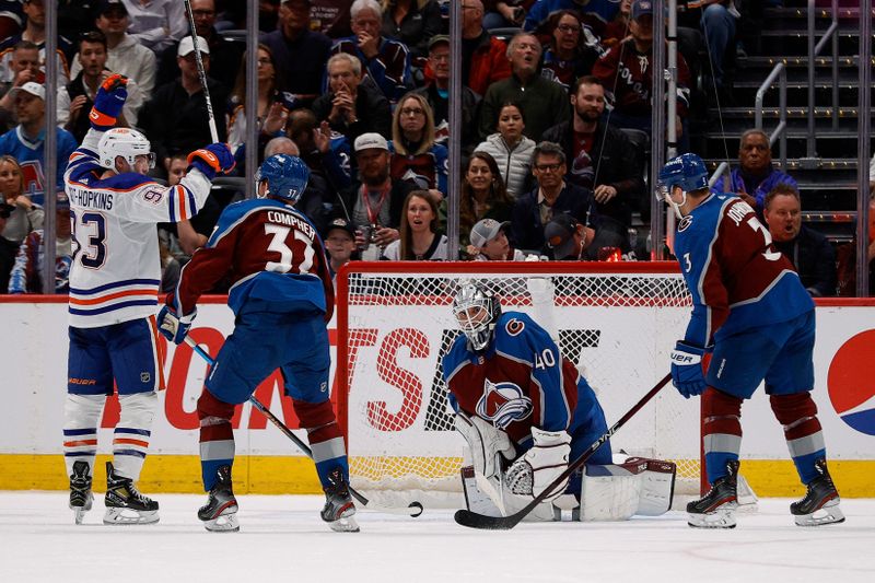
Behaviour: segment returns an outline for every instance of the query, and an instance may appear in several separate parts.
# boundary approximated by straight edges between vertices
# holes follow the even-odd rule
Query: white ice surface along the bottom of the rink
[[[149,493],[149,492],[147,492]],[[150,493],[151,495],[151,493]],[[800,528],[790,500],[760,500],[734,530],[680,512],[625,523],[469,530],[451,511],[360,512],[332,533],[320,497],[240,495],[241,532],[208,533],[206,497],[155,494],[161,522],[105,526],[103,497],[75,526],[61,492],[0,492],[0,581],[118,583],[875,582],[875,500],[842,500],[844,524]]]

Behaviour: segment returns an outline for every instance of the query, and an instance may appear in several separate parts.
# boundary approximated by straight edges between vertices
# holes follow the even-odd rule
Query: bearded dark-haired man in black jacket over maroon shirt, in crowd
[[[605,88],[598,79],[578,79],[570,101],[571,120],[545,131],[544,139],[559,143],[571,161],[565,179],[593,190],[598,213],[628,229],[632,209],[645,198],[644,153],[603,119]]]

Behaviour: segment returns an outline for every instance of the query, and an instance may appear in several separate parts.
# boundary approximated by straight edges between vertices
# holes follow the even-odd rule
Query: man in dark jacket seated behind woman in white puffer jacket
[[[480,105],[479,130],[486,139],[495,128],[501,107],[509,102],[520,105],[526,114],[526,137],[539,141],[547,128],[571,116],[568,93],[539,73],[541,46],[530,33],[520,33],[508,45],[513,74],[489,85]]]

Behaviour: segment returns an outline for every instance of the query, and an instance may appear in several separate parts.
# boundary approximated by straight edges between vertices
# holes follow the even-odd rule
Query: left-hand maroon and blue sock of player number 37
[[[217,399],[206,387],[198,399],[200,419],[200,470],[203,491],[215,486],[221,466],[234,465],[234,431],[231,418],[234,406]]]

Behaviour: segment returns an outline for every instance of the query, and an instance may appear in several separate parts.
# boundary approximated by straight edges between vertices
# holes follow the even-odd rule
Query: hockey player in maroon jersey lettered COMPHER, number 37
[[[240,529],[231,480],[231,418],[234,407],[276,369],[307,430],[327,499],[322,518],[335,530],[359,529],[352,518],[346,445],[328,400],[331,275],[316,229],[294,209],[308,178],[310,170],[298,156],[267,159],[256,174],[258,198],[222,212],[207,246],[183,268],[176,292],[167,294],[159,314],[161,334],[178,345],[197,315],[198,298],[230,276],[228,305],[236,325],[198,399],[200,462],[209,492],[198,517],[208,530]]]

